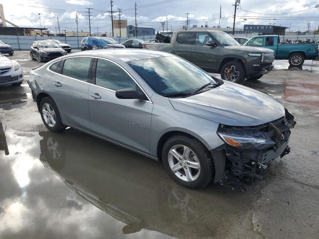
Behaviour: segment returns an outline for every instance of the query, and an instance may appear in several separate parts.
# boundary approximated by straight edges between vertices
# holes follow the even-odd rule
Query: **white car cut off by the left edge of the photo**
[[[19,86],[24,80],[23,71],[17,61],[10,60],[0,53],[0,86]]]

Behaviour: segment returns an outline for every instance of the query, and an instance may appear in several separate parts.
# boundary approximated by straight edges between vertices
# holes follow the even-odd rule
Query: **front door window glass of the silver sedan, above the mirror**
[[[136,87],[136,83],[121,67],[101,59],[96,65],[95,84],[114,91]]]

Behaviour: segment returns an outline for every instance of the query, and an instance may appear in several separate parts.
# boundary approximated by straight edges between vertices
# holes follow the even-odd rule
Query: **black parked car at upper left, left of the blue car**
[[[38,62],[50,61],[64,55],[66,51],[53,41],[34,41],[30,48],[30,57]]]

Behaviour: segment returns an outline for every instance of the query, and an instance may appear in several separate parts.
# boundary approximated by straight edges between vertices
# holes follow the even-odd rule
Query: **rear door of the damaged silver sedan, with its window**
[[[92,58],[65,59],[50,79],[50,93],[67,124],[90,131],[88,92]],[[92,62],[93,63],[93,62]]]

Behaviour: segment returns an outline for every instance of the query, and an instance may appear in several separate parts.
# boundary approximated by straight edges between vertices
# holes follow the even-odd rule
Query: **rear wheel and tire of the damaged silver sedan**
[[[50,97],[44,97],[40,102],[40,114],[44,125],[52,132],[65,129],[59,110]]]

